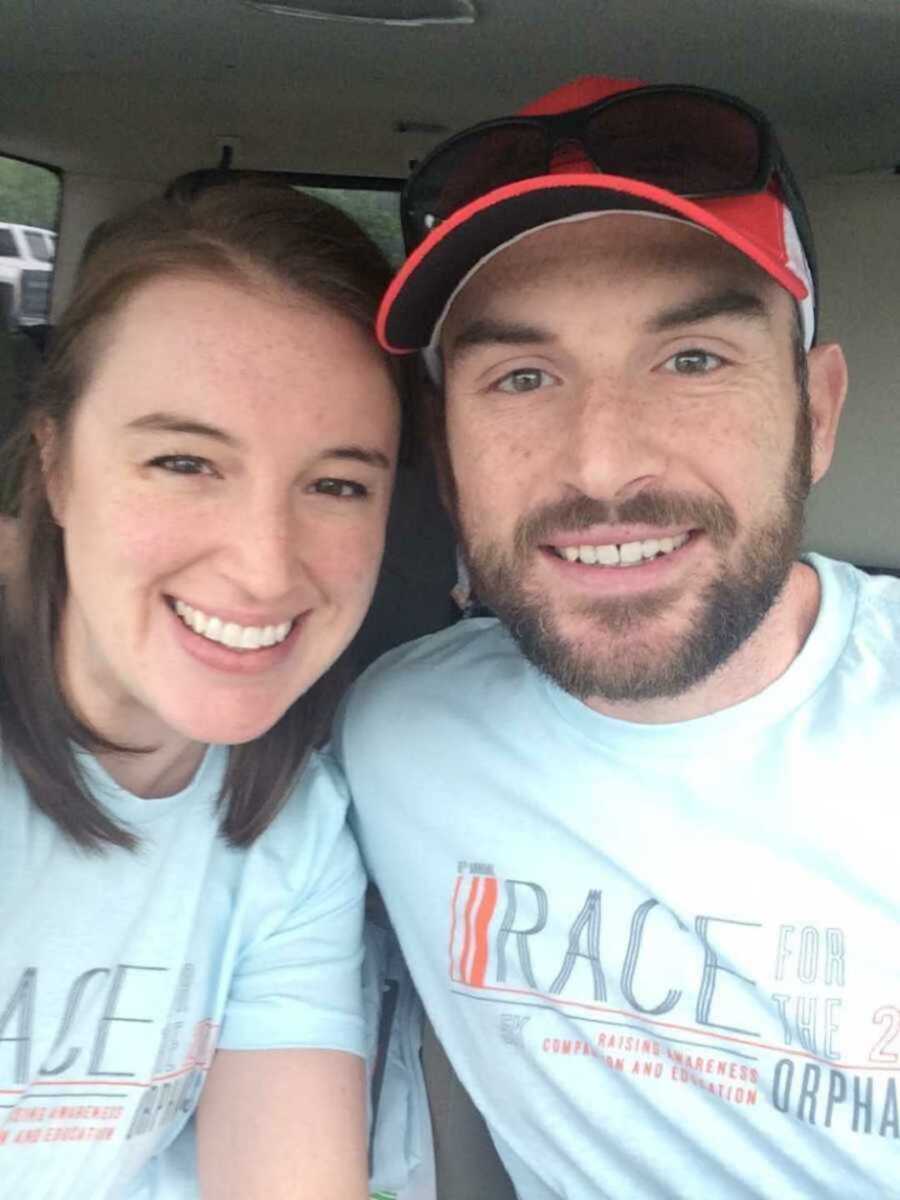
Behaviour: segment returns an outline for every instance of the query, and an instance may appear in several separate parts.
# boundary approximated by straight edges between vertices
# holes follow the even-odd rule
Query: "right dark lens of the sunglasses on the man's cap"
[[[757,122],[712,96],[625,95],[589,119],[584,142],[604,173],[641,179],[678,196],[762,186]]]

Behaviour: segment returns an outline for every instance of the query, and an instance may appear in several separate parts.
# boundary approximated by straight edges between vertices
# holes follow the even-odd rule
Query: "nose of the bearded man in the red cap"
[[[592,383],[574,397],[562,479],[595,499],[624,500],[658,482],[668,451],[652,406],[634,385]]]

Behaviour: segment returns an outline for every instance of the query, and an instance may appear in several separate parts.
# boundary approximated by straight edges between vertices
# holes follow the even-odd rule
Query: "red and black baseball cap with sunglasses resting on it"
[[[767,119],[704,88],[589,76],[515,116],[442,143],[403,190],[409,256],[382,301],[395,354],[433,344],[454,299],[490,258],[547,226],[605,212],[697,226],[797,301],[815,336],[806,209]]]

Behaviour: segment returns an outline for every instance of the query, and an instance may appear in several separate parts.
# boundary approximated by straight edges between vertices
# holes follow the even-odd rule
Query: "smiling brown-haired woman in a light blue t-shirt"
[[[364,884],[311,748],[383,546],[386,277],[262,185],[88,248],[0,601],[4,1194],[366,1193]]]

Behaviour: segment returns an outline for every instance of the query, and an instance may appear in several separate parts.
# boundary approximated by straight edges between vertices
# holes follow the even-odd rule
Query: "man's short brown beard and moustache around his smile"
[[[578,640],[563,632],[552,604],[520,581],[553,533],[596,524],[702,529],[724,562],[738,533],[737,516],[724,500],[659,491],[638,493],[622,504],[577,496],[524,516],[511,553],[469,538],[464,538],[463,553],[478,599],[497,613],[522,653],[565,691],[581,700],[611,702],[680,696],[727,662],[778,600],[799,551],[809,488],[810,418],[804,389],[776,510],[748,529],[738,562],[722,566],[701,590],[688,628],[673,632],[668,643],[665,616],[674,610],[684,584],[643,596],[583,600],[565,613],[589,622],[588,636]],[[654,634],[654,625],[655,637],[647,636]]]

